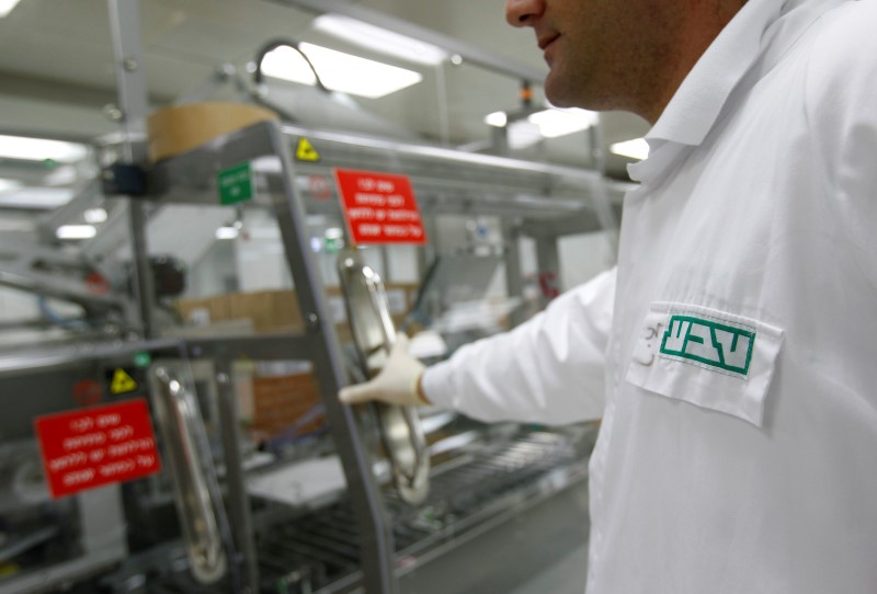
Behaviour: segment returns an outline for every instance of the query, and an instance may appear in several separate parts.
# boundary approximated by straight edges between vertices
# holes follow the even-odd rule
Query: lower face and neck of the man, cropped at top
[[[664,54],[663,0],[506,0],[506,20],[532,26],[550,71],[545,94],[555,105],[640,112],[650,68]],[[661,7],[664,7],[662,9]],[[665,14],[664,14],[665,16]]]

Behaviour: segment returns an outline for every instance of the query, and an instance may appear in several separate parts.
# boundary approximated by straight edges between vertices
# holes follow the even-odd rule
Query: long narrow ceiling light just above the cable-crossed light
[[[449,57],[441,47],[341,14],[317,16],[314,28],[373,52],[419,64],[437,66]]]

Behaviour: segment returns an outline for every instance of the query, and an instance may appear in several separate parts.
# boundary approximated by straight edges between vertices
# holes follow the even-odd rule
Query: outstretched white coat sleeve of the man
[[[614,297],[612,269],[514,330],[467,344],[428,368],[423,391],[436,405],[481,421],[599,419]]]

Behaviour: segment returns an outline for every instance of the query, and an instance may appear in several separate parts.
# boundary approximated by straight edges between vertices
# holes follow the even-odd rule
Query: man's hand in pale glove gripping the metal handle
[[[348,404],[371,400],[403,407],[429,404],[420,392],[420,376],[424,368],[408,354],[408,336],[400,332],[380,373],[365,384],[342,388],[338,397]]]

